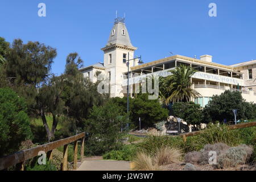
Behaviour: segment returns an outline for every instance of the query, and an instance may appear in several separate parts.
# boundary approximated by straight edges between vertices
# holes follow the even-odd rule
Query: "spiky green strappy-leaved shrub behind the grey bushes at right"
[[[236,130],[230,130],[226,125],[207,126],[207,129],[202,130],[199,135],[193,137],[191,147],[196,151],[201,150],[205,144],[225,143],[228,146],[237,146],[241,143],[240,134]]]

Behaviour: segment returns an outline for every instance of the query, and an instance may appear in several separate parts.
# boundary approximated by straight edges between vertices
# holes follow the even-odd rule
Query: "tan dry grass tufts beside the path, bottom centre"
[[[160,166],[177,163],[180,158],[180,150],[171,147],[159,148],[154,155],[139,152],[133,161],[133,169],[138,171],[158,171]]]

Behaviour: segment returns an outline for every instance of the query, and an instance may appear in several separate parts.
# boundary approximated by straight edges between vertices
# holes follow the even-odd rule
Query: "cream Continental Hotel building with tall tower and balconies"
[[[108,78],[110,97],[127,96],[127,60],[134,58],[136,49],[131,44],[124,19],[117,18],[108,43],[101,49],[104,51],[104,63],[97,63],[80,71],[93,82],[97,81],[96,72],[101,72]],[[192,88],[201,94],[201,97],[193,98],[196,104],[204,107],[213,95],[219,95],[225,90],[238,90],[247,102],[256,103],[256,60],[224,65],[214,63],[210,55],[200,56],[200,59],[175,55],[141,65],[138,61],[129,61],[131,97],[134,95],[134,85],[141,84],[143,77],[152,74],[166,77],[170,75],[168,71],[184,64],[198,71],[191,78]]]

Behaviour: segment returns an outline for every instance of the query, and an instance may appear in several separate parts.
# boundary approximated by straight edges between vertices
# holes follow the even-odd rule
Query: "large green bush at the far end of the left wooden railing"
[[[122,146],[125,133],[121,127],[126,126],[127,115],[120,117],[120,108],[112,101],[103,106],[93,106],[89,119],[85,121],[85,131],[88,133],[86,154],[101,155]]]

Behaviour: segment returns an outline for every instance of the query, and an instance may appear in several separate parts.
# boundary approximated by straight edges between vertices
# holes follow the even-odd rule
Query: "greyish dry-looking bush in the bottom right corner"
[[[246,145],[241,145],[238,147],[229,148],[225,154],[217,158],[218,168],[229,168],[237,167],[241,164],[246,164],[247,160],[250,158],[253,149]]]

